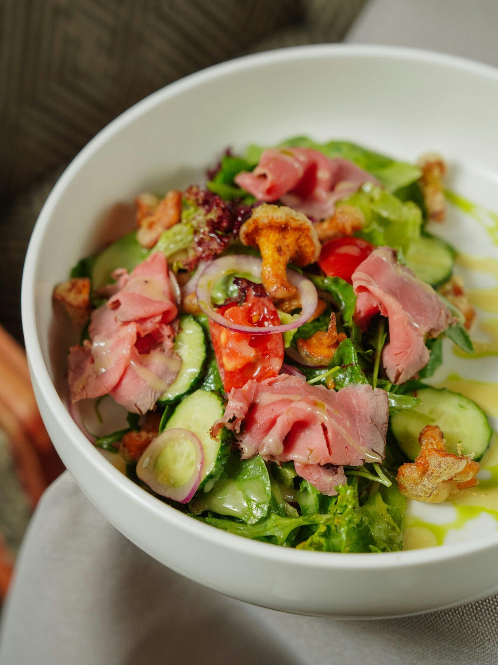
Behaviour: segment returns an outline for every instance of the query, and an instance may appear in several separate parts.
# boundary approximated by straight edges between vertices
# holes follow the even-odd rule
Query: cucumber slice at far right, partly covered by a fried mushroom
[[[473,453],[473,459],[480,460],[493,434],[483,410],[469,398],[446,388],[422,388],[415,392],[422,401],[416,413],[406,409],[390,417],[391,432],[408,460],[413,462],[420,453],[418,435],[426,425],[441,428],[448,452],[457,454],[460,445],[464,455]]]

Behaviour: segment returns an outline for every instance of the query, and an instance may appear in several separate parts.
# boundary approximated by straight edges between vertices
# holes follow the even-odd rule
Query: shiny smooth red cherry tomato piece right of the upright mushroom
[[[317,263],[328,277],[341,277],[351,284],[351,276],[374,249],[361,238],[337,238],[323,245]]]

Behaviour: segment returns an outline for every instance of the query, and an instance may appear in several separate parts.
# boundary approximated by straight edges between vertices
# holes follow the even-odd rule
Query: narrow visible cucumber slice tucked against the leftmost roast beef
[[[204,331],[190,315],[180,317],[180,330],[175,337],[175,351],[181,358],[181,367],[175,381],[169,386],[159,404],[178,402],[183,395],[195,388],[206,360]]]

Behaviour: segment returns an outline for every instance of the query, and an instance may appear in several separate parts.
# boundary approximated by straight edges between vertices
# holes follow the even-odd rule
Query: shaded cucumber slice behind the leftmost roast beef
[[[150,249],[142,247],[137,241],[136,231],[127,233],[95,257],[90,275],[92,289],[96,291],[109,284],[116,268],[125,268],[131,273],[135,266],[147,259],[149,253]]]

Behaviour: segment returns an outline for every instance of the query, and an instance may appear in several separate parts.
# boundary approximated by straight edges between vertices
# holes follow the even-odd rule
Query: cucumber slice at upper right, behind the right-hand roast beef
[[[404,258],[419,279],[438,287],[452,275],[455,250],[435,235],[424,233],[410,242]]]

